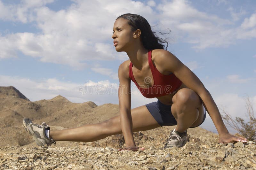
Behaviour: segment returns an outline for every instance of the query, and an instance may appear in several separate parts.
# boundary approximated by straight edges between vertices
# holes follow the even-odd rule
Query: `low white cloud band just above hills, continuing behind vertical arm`
[[[30,80],[17,76],[0,75],[1,86],[14,86],[30,101],[51,99],[58,95],[66,97],[71,102],[83,103],[92,101],[97,105],[118,104],[118,84],[108,80],[87,81],[78,83],[64,82],[55,78],[44,80]],[[135,84],[131,83],[132,106],[135,108],[156,101],[141,95]]]

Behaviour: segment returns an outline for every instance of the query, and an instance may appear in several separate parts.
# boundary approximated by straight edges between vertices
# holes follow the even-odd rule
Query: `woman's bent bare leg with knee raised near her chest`
[[[172,98],[172,115],[177,121],[178,132],[200,125],[204,119],[204,109],[200,97],[188,88],[180,89]]]

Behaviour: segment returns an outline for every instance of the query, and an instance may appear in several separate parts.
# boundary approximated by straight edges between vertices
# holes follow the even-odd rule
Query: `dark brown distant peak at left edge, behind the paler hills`
[[[0,98],[6,97],[17,97],[30,101],[26,96],[24,96],[18,89],[13,86],[1,87],[0,86]]]

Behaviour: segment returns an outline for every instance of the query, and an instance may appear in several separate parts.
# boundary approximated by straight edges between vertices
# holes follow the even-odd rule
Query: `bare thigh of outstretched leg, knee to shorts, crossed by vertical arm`
[[[131,114],[133,132],[160,127],[145,105],[131,109]],[[109,119],[108,124],[111,127],[109,130],[113,132],[113,135],[122,133],[119,115]]]

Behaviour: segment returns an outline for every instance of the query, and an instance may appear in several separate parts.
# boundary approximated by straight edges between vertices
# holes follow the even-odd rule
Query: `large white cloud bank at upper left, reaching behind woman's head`
[[[42,62],[65,64],[77,69],[88,66],[89,60],[124,60],[127,55],[116,52],[111,38],[116,17],[133,12],[154,18],[149,6],[130,0],[118,4],[90,1],[90,5],[86,1],[76,1],[67,10],[57,12],[43,6],[50,2],[22,1],[16,5],[17,8],[23,6],[22,9],[26,8],[27,13],[33,15],[24,15],[27,17],[24,22],[33,18],[42,32],[0,36],[0,58],[18,57],[17,52],[21,51],[27,56],[40,58]]]

